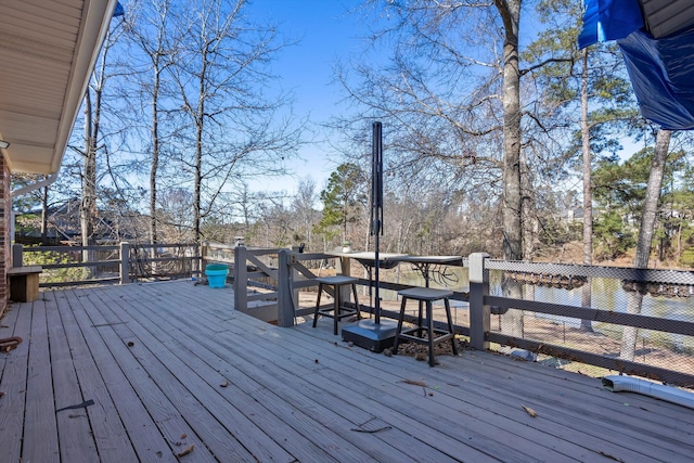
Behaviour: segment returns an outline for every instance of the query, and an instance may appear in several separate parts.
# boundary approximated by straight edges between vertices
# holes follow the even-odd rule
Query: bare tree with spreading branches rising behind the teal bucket
[[[267,64],[286,43],[273,27],[248,24],[246,3],[201,0],[176,18],[182,50],[171,73],[185,115],[179,160],[192,175],[195,240],[226,189],[244,177],[281,171],[277,160],[292,156],[300,137],[288,117],[288,97],[267,97],[273,78]]]

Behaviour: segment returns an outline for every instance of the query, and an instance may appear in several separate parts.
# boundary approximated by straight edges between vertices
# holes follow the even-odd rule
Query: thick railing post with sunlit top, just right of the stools
[[[470,344],[474,349],[489,349],[485,335],[491,329],[491,313],[485,305],[489,295],[489,270],[486,267],[487,253],[470,255]]]

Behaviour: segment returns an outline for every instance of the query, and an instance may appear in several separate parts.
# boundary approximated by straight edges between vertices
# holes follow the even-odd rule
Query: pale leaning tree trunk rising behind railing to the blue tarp
[[[658,211],[658,200],[660,198],[660,189],[663,187],[663,177],[665,173],[665,163],[668,158],[668,150],[670,147],[670,131],[658,130],[651,163],[651,175],[648,176],[648,184],[646,187],[645,204],[641,216],[641,228],[639,230],[639,241],[637,242],[637,255],[633,259],[633,266],[638,269],[648,267],[648,258],[651,256],[651,246],[653,235],[655,233],[655,222]],[[643,294],[645,285],[637,284],[635,291],[629,293],[627,300],[627,313],[641,313],[641,305],[643,303]],[[633,361],[637,348],[638,329],[634,326],[625,326],[621,335],[621,352],[620,358]]]

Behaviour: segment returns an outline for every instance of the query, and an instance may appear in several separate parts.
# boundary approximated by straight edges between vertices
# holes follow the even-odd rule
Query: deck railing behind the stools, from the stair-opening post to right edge
[[[301,265],[305,260],[332,258],[338,260],[338,269],[349,269],[348,258],[336,258],[325,254],[299,254],[288,249],[279,253],[279,283],[278,283],[278,321],[282,326],[291,326],[296,316],[312,311],[311,308],[298,308],[295,292],[299,288],[317,285],[316,278]],[[492,313],[505,313],[507,310],[542,313],[554,317],[565,317],[591,322],[604,322],[617,326],[633,326],[654,332],[694,337],[694,313],[692,320],[672,320],[661,317],[625,313],[605,310],[600,307],[576,307],[570,305],[550,304],[544,301],[525,300],[522,297],[502,297],[490,295],[490,270],[504,272],[522,272],[539,275],[564,275],[566,279],[611,278],[635,285],[665,284],[694,287],[694,272],[678,270],[632,269],[582,265],[556,265],[492,260],[484,253],[473,254],[462,259],[462,265],[470,271],[470,292],[454,293],[453,299],[467,301],[470,305],[470,322],[467,326],[457,325],[457,331],[470,337],[470,344],[476,349],[488,349],[490,343],[501,346],[518,347],[536,353],[545,353],[555,358],[569,359],[591,365],[596,365],[626,374],[651,377],[680,386],[694,386],[694,371],[691,366],[664,368],[652,364],[628,361],[614,355],[600,355],[577,348],[569,348],[545,340],[534,340],[523,336],[511,336],[503,332],[491,330]],[[342,270],[340,270],[342,271]],[[299,273],[301,279],[297,279]],[[359,279],[359,284],[371,285],[372,282]],[[409,287],[402,284],[382,282],[381,287],[398,291]],[[241,291],[241,288],[239,290]],[[349,294],[345,294],[349,298]],[[382,317],[395,318],[397,312],[382,310]],[[558,340],[558,339],[557,339]],[[686,353],[684,355],[686,357]],[[686,365],[691,365],[691,358]]]

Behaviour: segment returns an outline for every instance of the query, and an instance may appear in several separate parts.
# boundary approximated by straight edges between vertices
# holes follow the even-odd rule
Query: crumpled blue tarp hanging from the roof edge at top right
[[[694,129],[694,29],[655,39],[638,0],[584,4],[579,46],[617,40],[643,116],[664,129]]]

